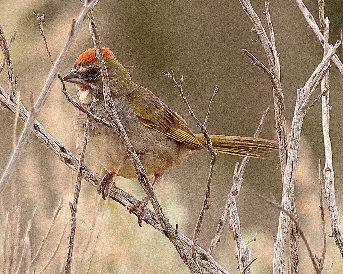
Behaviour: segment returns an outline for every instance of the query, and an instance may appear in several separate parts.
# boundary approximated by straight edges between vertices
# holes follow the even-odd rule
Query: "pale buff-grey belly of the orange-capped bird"
[[[74,127],[79,146],[83,131]],[[181,164],[193,150],[142,124],[127,130],[147,175],[162,175],[171,166]],[[99,163],[108,172],[118,172],[124,178],[137,178],[131,160],[118,135],[103,125],[91,127],[86,153],[92,162]]]

